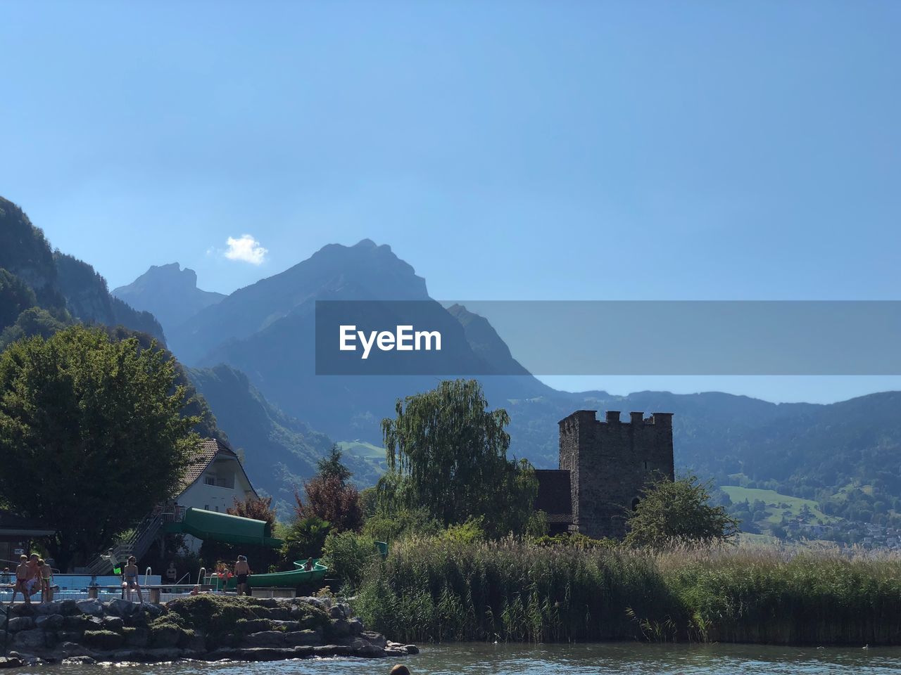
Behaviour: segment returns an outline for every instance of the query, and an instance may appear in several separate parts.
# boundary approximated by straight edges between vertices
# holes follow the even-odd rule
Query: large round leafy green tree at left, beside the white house
[[[176,366],[155,347],[76,326],[0,355],[0,494],[85,560],[176,488],[196,448]]]

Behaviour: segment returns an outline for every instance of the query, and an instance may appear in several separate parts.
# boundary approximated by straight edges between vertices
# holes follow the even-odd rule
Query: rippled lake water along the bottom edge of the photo
[[[378,675],[394,660],[318,659],[267,663],[177,663],[123,666],[116,675]],[[423,645],[401,659],[413,675],[881,675],[901,672],[901,647],[870,649],[742,644],[449,644]],[[18,669],[7,673],[25,673]],[[97,675],[96,666],[41,669]]]

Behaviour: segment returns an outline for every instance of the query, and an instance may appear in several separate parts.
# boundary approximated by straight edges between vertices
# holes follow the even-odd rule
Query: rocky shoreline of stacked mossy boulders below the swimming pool
[[[202,594],[163,605],[115,599],[0,608],[0,668],[42,663],[278,661],[418,653],[367,631],[341,599]]]

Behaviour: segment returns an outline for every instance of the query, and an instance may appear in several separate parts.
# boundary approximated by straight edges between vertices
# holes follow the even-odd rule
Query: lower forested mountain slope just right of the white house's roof
[[[294,491],[316,473],[316,462],[332,439],[271,405],[247,375],[228,365],[188,370],[191,382],[244,456],[244,468],[258,491],[273,497],[279,513],[291,513]],[[378,481],[377,461],[345,451],[343,461],[360,487]]]

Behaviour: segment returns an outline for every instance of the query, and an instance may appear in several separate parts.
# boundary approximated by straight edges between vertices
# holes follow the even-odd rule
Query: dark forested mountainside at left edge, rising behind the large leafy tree
[[[0,269],[3,285],[9,289],[0,299],[0,330],[9,329],[4,341],[41,333],[72,320],[122,325],[163,340],[157,320],[146,311],[136,311],[114,298],[106,280],[94,268],[75,257],[52,251],[41,229],[32,225],[25,212],[0,197]],[[13,289],[27,288],[33,294],[32,307],[22,309],[23,296]],[[15,297],[13,297],[15,295]],[[11,320],[12,310],[19,314]],[[36,308],[36,309],[35,309]]]

